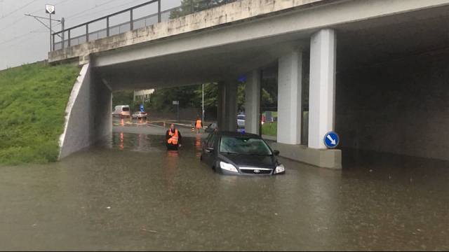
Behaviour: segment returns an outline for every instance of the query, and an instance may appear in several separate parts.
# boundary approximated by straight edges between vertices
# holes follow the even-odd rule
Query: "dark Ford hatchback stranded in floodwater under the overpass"
[[[284,174],[286,169],[277,155],[279,151],[272,151],[256,134],[213,132],[203,142],[201,160],[222,174]]]

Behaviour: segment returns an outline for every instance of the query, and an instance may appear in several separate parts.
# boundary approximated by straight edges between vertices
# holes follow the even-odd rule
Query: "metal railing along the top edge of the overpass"
[[[105,38],[108,36],[121,34],[126,31],[132,31],[133,29],[148,27],[158,22],[165,22],[173,18],[179,18],[184,15],[189,15],[192,13],[199,12],[201,10],[214,8],[238,0],[189,0],[185,1],[185,3],[182,6],[177,6],[175,8],[170,8],[168,10],[161,10],[161,1],[163,0],[147,1],[145,3],[139,4],[138,6],[133,6],[125,10],[120,10],[116,13],[105,15],[101,18],[97,18],[89,22],[84,22],[81,25],[75,25],[74,27],[70,27],[68,29],[64,29],[62,27],[61,31],[52,34],[53,36],[52,50],[60,50],[62,48],[67,48],[72,45],[79,45],[81,43],[94,41],[99,38]],[[145,15],[142,18],[134,18],[136,11],[140,10],[140,12],[142,12],[143,8],[151,5],[157,5],[157,11],[155,11],[152,14]],[[119,22],[119,24],[117,25],[111,25],[113,18],[121,18],[121,20],[123,20],[123,15],[128,15],[128,17],[126,17],[128,21]],[[104,28],[100,29],[94,28],[95,31],[91,31],[94,25],[97,27],[100,25],[100,27]]]

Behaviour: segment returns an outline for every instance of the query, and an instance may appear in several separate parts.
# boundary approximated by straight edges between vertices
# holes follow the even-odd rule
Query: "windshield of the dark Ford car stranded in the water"
[[[239,155],[272,155],[262,139],[250,137],[222,137],[220,152]]]

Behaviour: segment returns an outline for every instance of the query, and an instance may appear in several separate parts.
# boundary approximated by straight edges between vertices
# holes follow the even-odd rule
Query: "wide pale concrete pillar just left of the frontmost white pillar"
[[[302,51],[279,59],[278,136],[281,144],[301,144]]]

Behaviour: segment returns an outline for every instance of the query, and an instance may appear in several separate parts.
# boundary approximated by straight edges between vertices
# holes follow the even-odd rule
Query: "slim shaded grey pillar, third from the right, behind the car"
[[[259,134],[260,125],[260,71],[255,70],[246,76],[245,87],[245,131]]]

